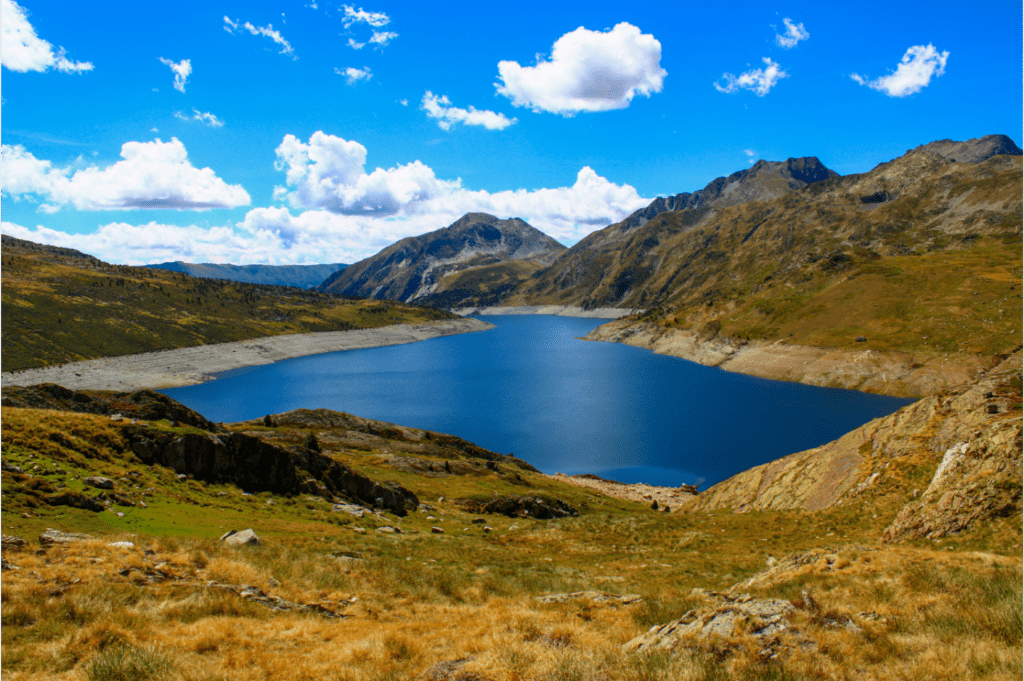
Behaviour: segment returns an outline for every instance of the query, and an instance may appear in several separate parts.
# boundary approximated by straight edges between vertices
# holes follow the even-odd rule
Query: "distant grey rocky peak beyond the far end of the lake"
[[[525,268],[528,272],[551,263],[564,250],[564,246],[519,218],[500,220],[484,213],[469,213],[443,229],[403,239],[349,265],[317,290],[411,302],[460,288],[451,282],[442,284],[454,273],[520,262],[531,263]],[[505,267],[499,278],[502,275],[518,283],[518,267]],[[470,296],[474,293],[478,291],[468,292]]]

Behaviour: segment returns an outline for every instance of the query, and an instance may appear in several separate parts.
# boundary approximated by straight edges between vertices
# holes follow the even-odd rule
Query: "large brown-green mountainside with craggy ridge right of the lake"
[[[736,338],[1002,352],[1021,342],[1021,157],[912,153],[774,201],[612,225],[506,300],[641,307]]]

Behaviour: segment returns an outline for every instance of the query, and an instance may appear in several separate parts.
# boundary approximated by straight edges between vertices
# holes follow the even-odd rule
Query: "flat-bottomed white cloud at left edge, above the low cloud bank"
[[[207,210],[251,202],[241,184],[227,184],[210,168],[193,166],[184,144],[174,137],[169,142],[125,142],[123,160],[106,168],[55,168],[20,144],[4,144],[2,151],[0,190],[13,199],[41,197],[49,202],[40,206],[43,212],[69,203],[84,211]]]

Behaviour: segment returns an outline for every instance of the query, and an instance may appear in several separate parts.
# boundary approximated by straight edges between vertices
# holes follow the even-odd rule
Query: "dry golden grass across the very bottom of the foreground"
[[[798,608],[782,641],[812,645],[783,646],[779,661],[765,662],[758,654],[764,642],[750,638],[672,653],[623,652],[651,619],[679,616],[651,601],[542,604],[532,593],[498,594],[485,581],[468,579],[450,585],[447,595],[430,590],[428,597],[417,592],[433,579],[424,561],[312,554],[302,560],[301,549],[267,556],[269,547],[230,549],[200,540],[168,546],[138,537],[135,548],[119,549],[106,545],[112,539],[121,538],[45,555],[8,554],[20,569],[5,572],[2,587],[5,679],[376,681],[427,678],[436,665],[454,661],[462,662],[447,678],[490,681],[1016,679],[1022,673],[1021,561],[995,554],[852,548],[830,565],[821,559],[766,572],[740,590],[791,599]],[[333,588],[323,583],[329,564]],[[172,578],[146,583],[147,565]],[[125,573],[129,566],[136,569]],[[271,581],[273,574],[284,579]],[[276,612],[208,581],[260,586],[347,616]],[[642,580],[630,586],[645,591]],[[700,607],[699,599],[680,600]]]

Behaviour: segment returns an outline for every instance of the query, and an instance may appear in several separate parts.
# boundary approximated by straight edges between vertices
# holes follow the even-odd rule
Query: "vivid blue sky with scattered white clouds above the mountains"
[[[2,230],[112,262],[354,262],[468,211],[571,245],[757,159],[1022,142],[1015,3],[0,6]]]

